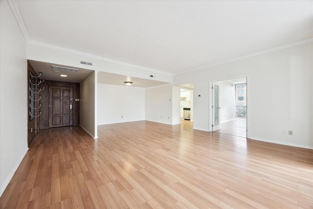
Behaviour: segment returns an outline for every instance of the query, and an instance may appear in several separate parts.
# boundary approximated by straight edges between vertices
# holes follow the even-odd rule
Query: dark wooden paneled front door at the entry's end
[[[50,86],[49,128],[73,125],[73,88]]]

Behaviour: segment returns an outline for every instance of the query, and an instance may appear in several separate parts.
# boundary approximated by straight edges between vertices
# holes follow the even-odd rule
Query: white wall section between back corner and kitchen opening
[[[146,120],[172,124],[172,85],[162,85],[145,90]]]

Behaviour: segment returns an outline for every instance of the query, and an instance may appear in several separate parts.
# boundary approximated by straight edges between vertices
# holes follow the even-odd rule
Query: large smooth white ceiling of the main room
[[[30,43],[171,74],[313,38],[312,0],[17,0]]]

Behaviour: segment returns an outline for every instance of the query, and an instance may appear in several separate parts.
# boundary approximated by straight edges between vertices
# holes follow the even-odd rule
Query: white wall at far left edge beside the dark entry
[[[8,1],[0,1],[0,195],[27,152],[26,41]]]

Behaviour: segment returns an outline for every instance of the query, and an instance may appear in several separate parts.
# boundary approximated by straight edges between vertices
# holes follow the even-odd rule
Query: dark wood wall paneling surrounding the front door
[[[79,101],[75,99],[80,98],[80,84],[79,83],[69,83],[69,82],[60,82],[60,81],[50,81],[46,80],[41,87],[45,89],[41,92],[41,111],[40,116],[40,129],[49,128],[49,86],[63,86],[63,87],[72,87],[73,88],[73,125],[79,125]],[[52,119],[52,118],[51,118]]]

